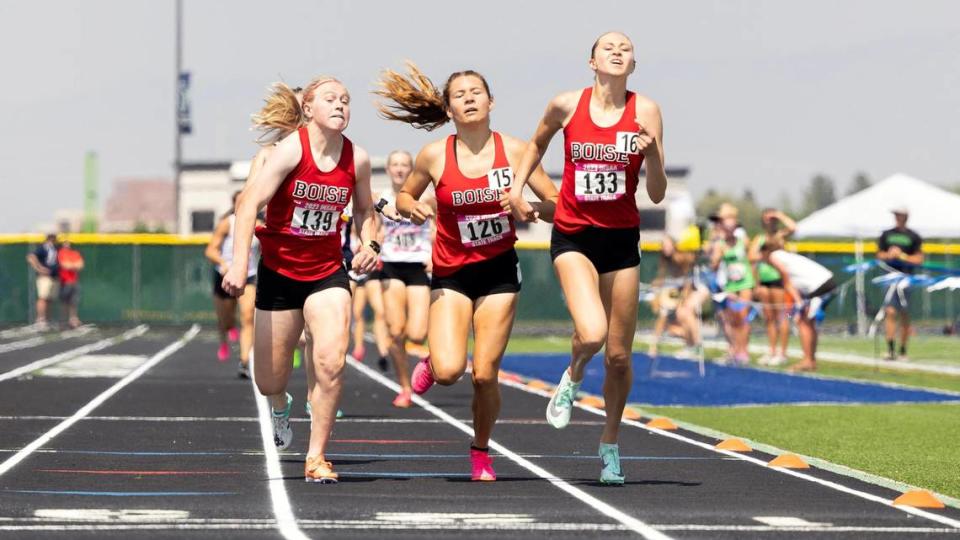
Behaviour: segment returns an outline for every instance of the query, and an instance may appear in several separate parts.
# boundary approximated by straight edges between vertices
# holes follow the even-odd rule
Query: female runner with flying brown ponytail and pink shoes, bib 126
[[[433,130],[453,121],[456,134],[424,146],[397,194],[397,210],[416,224],[436,216],[427,341],[430,356],[413,370],[413,391],[434,382],[451,385],[467,367],[467,336],[473,326],[473,429],[471,478],[496,479],[487,444],[500,412],[497,374],[520,291],[513,218],[505,197],[526,143],[492,131],[493,98],[475,71],[450,75],[443,91],[413,64],[403,76],[387,71],[378,95],[392,103],[381,113],[416,128]],[[531,213],[552,219],[556,188],[541,168],[531,167],[530,186],[543,203]],[[433,184],[437,210],[420,201]]]

